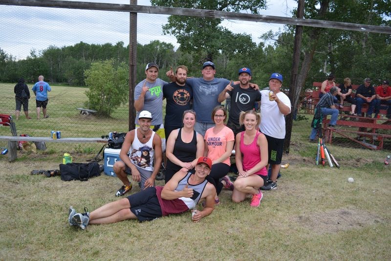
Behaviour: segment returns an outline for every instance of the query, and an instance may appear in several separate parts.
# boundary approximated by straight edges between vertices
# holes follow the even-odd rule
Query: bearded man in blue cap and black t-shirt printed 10
[[[239,69],[239,84],[228,84],[225,89],[218,95],[217,101],[222,102],[231,97],[229,118],[227,127],[236,135],[244,131],[244,126],[239,124],[240,112],[246,112],[254,108],[254,104],[261,100],[261,93],[250,88],[251,70],[243,67]]]

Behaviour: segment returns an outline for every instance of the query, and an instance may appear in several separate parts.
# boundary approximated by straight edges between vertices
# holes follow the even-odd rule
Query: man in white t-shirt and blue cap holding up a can
[[[270,180],[261,187],[262,190],[277,189],[277,175],[280,171],[285,139],[284,116],[291,112],[290,100],[288,96],[281,92],[281,86],[282,75],[274,72],[269,79],[270,90],[261,91],[260,131],[266,136],[269,151],[269,161],[266,169],[269,168],[269,165],[272,166]]]

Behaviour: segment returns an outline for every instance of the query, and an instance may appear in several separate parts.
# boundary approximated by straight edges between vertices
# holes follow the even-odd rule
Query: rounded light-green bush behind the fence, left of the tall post
[[[128,101],[129,69],[124,63],[115,65],[113,60],[91,64],[84,72],[88,97],[87,107],[99,115],[109,117],[111,112]]]

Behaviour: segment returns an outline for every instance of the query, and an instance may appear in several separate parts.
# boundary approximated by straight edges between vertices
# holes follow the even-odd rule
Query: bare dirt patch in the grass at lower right
[[[383,222],[376,215],[355,209],[335,209],[323,213],[298,216],[295,219],[301,226],[314,231],[316,234],[335,233]]]

